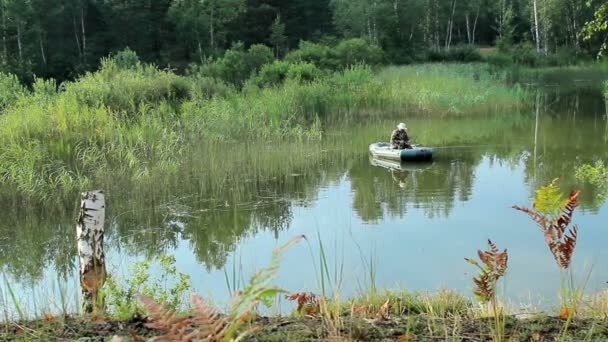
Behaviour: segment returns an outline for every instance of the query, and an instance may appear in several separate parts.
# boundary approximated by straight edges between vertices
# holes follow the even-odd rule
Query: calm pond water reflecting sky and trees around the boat
[[[321,239],[329,285],[342,296],[372,282],[469,295],[475,269],[464,258],[492,239],[509,251],[505,296],[546,307],[557,298],[559,271],[540,230],[511,206],[531,206],[534,190],[559,177],[564,192],[583,190],[575,273],[591,272],[589,293],[605,288],[608,205],[574,177],[577,166],[608,157],[598,77],[606,79],[546,76],[532,87],[534,103],[512,113],[361,115],[328,124],[321,142],[202,144],[172,175],[133,182],[108,174],[98,183],[108,201],[108,271],[127,275],[136,261],[172,254],[194,290],[221,304],[227,283],[246,281],[273,248],[304,234],[276,281],[288,291],[320,291]],[[401,121],[416,143],[435,147],[433,163],[370,159],[368,144],[386,141]],[[1,199],[5,312],[14,312],[9,288],[30,314],[60,311],[65,301],[76,306],[78,200]]]

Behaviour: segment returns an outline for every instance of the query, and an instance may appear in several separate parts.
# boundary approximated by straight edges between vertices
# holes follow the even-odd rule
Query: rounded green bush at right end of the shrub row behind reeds
[[[356,64],[378,65],[384,58],[380,47],[361,38],[341,41],[335,48],[335,55],[342,67]]]

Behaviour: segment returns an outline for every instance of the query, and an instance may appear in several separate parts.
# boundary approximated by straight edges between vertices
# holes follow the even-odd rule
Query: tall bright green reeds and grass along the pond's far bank
[[[5,191],[44,199],[95,186],[100,173],[173,172],[204,141],[320,139],[326,120],[361,113],[425,115],[516,110],[526,92],[484,65],[365,66],[237,90],[194,73],[106,59],[99,71],[31,91],[3,76],[0,176]],[[253,75],[252,78],[257,77]],[[7,190],[8,189],[8,190]]]

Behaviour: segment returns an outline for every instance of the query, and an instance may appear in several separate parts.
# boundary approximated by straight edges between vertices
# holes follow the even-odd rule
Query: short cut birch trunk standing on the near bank
[[[85,313],[95,312],[98,304],[97,294],[106,280],[103,251],[104,220],[105,196],[103,191],[83,192],[76,225],[76,238],[80,259],[82,308]]]

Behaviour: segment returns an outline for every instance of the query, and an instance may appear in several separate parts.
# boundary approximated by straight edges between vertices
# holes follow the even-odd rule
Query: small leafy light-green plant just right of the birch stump
[[[183,297],[191,287],[190,276],[177,270],[175,257],[161,255],[159,257],[160,273],[153,277],[151,264],[140,261],[130,269],[131,276],[119,279],[108,276],[107,283],[102,289],[102,297],[112,316],[118,319],[130,319],[142,313],[142,307],[137,301],[137,295],[143,294],[154,301],[162,302],[172,310],[183,304]],[[168,286],[167,284],[171,284]]]

